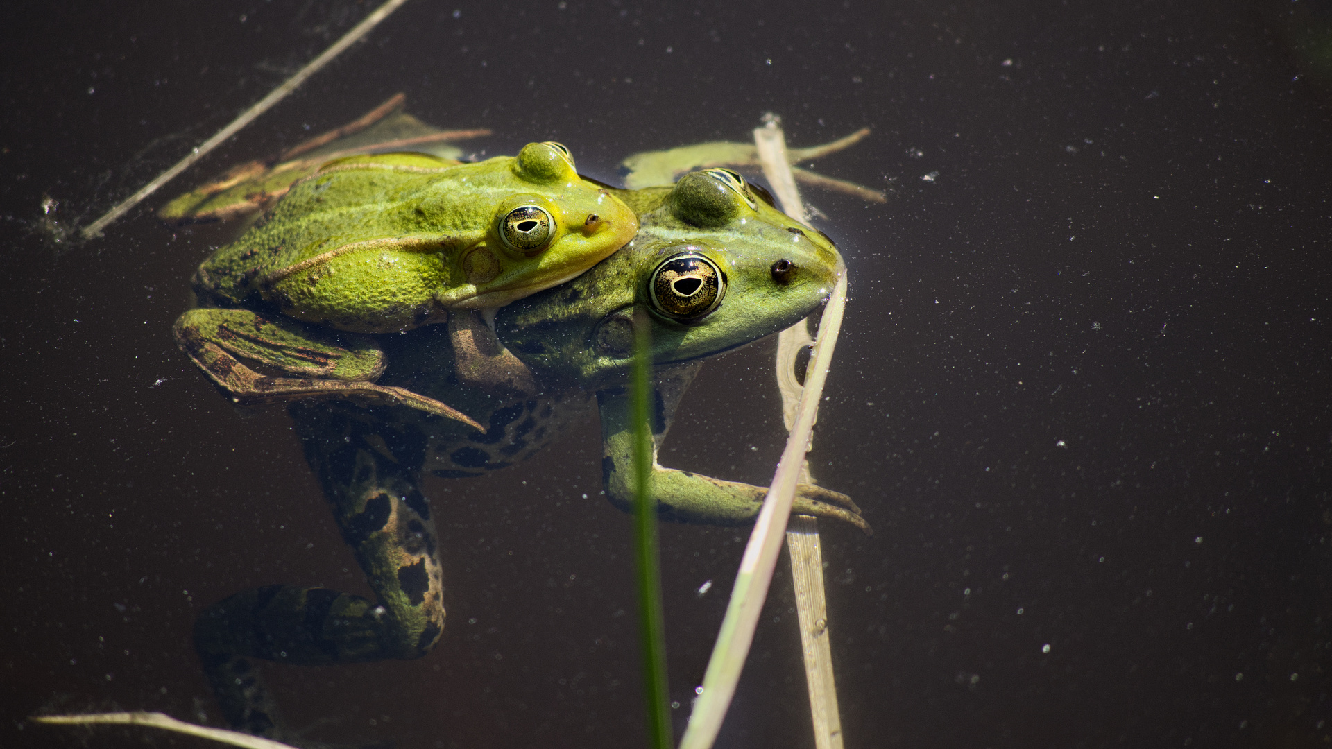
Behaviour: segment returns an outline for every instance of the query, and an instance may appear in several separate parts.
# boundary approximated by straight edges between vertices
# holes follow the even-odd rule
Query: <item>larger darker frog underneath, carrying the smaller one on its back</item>
[[[591,271],[493,317],[465,311],[448,327],[378,339],[388,363],[380,382],[457,404],[484,430],[401,404],[321,397],[289,406],[374,598],[278,584],[205,609],[196,646],[234,726],[282,733],[250,658],[330,665],[430,652],[445,612],[433,510],[420,489],[426,472],[450,478],[502,469],[597,408],[606,496],[630,509],[635,311],[651,333],[655,452],[706,357],[806,317],[844,273],[831,240],[729,169],[609,192],[633,208],[641,229]],[[754,520],[766,489],[654,461],[651,493],[666,520],[738,525]],[[848,497],[821,486],[801,485],[794,512],[868,532]]]

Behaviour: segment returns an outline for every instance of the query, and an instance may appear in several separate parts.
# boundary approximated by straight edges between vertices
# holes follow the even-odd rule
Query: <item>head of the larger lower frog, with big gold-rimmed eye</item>
[[[721,353],[806,317],[844,273],[826,235],[730,169],[614,192],[638,213],[638,236],[496,317],[500,339],[534,368],[585,384],[619,376],[631,363],[635,309],[647,312],[655,364]]]

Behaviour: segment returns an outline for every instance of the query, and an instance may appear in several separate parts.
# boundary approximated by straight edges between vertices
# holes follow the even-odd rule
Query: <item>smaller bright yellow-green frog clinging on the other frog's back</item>
[[[296,181],[200,265],[202,308],[176,340],[237,401],[334,393],[406,404],[478,428],[436,398],[374,381],[370,333],[498,308],[582,273],[638,220],[569,151],[465,164],[428,153],[354,155]]]

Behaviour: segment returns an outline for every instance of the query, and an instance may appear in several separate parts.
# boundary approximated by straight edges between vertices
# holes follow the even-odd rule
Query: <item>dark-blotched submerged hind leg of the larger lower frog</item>
[[[281,740],[292,732],[250,658],[296,665],[418,658],[438,641],[445,618],[434,521],[417,489],[425,437],[348,418],[337,404],[292,410],[376,600],[266,585],[208,606],[194,622],[194,646],[226,721]]]

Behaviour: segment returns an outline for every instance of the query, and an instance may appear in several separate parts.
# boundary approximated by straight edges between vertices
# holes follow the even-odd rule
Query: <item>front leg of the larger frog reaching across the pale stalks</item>
[[[723,481],[675,470],[657,464],[657,450],[666,438],[671,416],[698,365],[658,369],[650,393],[653,432],[653,473],[650,490],[663,520],[678,522],[706,522],[710,525],[743,525],[753,522],[767,494],[766,486],[753,486],[738,481]],[[606,496],[625,512],[634,506],[634,421],[633,404],[627,388],[611,388],[597,393],[601,409],[601,433],[605,457],[602,474]],[[791,512],[815,517],[843,520],[870,533],[870,525],[860,517],[860,509],[846,494],[813,484],[797,486]]]

